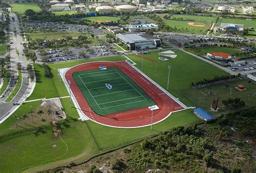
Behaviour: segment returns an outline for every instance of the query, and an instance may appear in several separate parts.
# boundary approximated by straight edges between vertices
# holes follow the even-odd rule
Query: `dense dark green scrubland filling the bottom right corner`
[[[176,127],[73,170],[100,172],[104,164],[114,172],[255,172],[255,115],[250,109],[204,125]]]

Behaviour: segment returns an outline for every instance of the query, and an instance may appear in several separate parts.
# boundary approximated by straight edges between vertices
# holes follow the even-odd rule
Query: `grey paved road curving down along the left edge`
[[[15,18],[15,21],[12,20],[12,17]],[[0,99],[0,121],[4,119],[4,117],[9,116],[9,112],[15,108],[13,105],[14,102],[19,102],[21,98],[25,95],[28,85],[29,85],[29,79],[26,78],[28,76],[28,73],[26,71],[26,57],[23,54],[23,46],[22,46],[22,37],[19,35],[19,24],[17,16],[13,13],[10,14],[10,42],[13,42],[10,47],[10,56],[11,56],[11,75],[17,76],[17,62],[21,62],[22,67],[22,86],[21,89],[18,91],[17,95],[14,97],[14,99],[11,100],[9,103],[4,103],[4,99],[8,97],[8,93],[5,94],[5,97]],[[14,30],[16,28],[17,31],[17,37],[15,37]],[[18,52],[18,54],[17,54]],[[10,93],[10,92],[9,92]]]

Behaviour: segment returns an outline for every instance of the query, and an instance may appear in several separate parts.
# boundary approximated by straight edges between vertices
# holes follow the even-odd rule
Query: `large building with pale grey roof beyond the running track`
[[[142,33],[116,34],[116,39],[128,46],[130,51],[135,49],[161,47],[160,39],[154,39],[150,35]]]

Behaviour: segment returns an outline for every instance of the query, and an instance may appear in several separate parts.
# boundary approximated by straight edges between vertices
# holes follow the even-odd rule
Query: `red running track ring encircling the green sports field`
[[[90,105],[86,102],[86,99],[83,96],[82,92],[78,88],[75,80],[73,79],[72,74],[77,71],[98,69],[99,66],[119,68],[124,74],[126,74],[134,82],[136,82],[147,93],[147,95],[149,95],[154,100],[154,102],[157,103],[160,109],[153,112],[153,123],[165,119],[173,111],[179,111],[184,109],[183,106],[181,106],[171,97],[166,95],[166,93],[160,90],[156,85],[150,82],[146,77],[140,74],[136,69],[134,69],[129,63],[125,61],[89,62],[79,64],[78,66],[72,67],[68,71],[66,71],[65,80],[71,81],[70,88],[73,96],[79,104],[80,109],[91,120],[107,126],[124,128],[151,125],[151,111],[148,107],[108,114],[106,116],[99,116],[98,114],[93,112]]]

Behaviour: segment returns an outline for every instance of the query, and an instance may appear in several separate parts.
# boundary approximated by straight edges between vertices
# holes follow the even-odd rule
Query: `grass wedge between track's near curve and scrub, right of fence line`
[[[100,149],[127,145],[139,139],[146,138],[147,136],[167,131],[176,126],[195,124],[198,122],[200,122],[200,120],[193,114],[192,110],[172,113],[166,120],[153,125],[153,131],[150,130],[150,126],[130,129],[112,128],[100,126],[93,121],[86,121]]]

